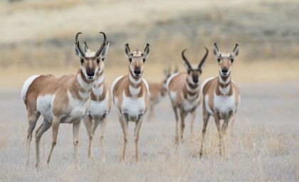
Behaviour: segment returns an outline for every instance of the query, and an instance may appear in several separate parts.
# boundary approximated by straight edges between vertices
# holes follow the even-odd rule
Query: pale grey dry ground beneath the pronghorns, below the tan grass
[[[206,151],[199,159],[201,105],[196,110],[194,139],[187,117],[183,144],[174,146],[174,113],[168,97],[155,107],[152,121],[140,132],[141,162],[135,164],[134,123],[129,124],[127,159],[120,162],[122,130],[114,105],[105,128],[106,163],[100,159],[99,129],[94,140],[95,159],[87,162],[88,137],[80,127],[80,168],[73,165],[73,134],[61,124],[49,168],[36,169],[35,142],[29,166],[24,164],[28,120],[21,89],[0,90],[1,181],[298,181],[298,82],[241,83],[241,105],[229,140],[229,159],[219,156],[213,118],[208,124]],[[40,118],[36,129],[41,124]],[[41,163],[51,145],[51,129],[41,139]]]

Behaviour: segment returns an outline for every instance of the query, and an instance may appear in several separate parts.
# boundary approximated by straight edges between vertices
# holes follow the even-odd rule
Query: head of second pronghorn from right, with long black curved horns
[[[184,66],[187,70],[188,73],[188,80],[192,85],[199,85],[199,76],[201,75],[202,69],[204,68],[204,61],[206,60],[206,56],[209,53],[209,50],[206,49],[206,54],[204,55],[204,58],[201,59],[199,65],[190,65],[189,61],[187,58],[184,56],[184,52],[187,50],[183,50],[182,52],[182,57],[184,60]]]

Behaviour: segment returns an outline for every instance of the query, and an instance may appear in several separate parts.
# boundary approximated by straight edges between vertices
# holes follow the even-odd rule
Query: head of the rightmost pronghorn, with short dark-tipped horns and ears
[[[214,43],[213,52],[219,63],[220,75],[225,77],[229,76],[231,74],[233,62],[238,55],[238,44],[236,43],[236,47],[234,48],[232,53],[221,53],[219,52],[216,43]]]

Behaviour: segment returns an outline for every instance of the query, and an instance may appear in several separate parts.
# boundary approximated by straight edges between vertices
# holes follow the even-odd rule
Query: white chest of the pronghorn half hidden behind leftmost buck
[[[106,93],[105,100],[102,100],[100,102],[90,100],[90,108],[87,114],[90,114],[93,117],[93,119],[100,119],[104,114],[108,114],[108,100],[109,92]]]

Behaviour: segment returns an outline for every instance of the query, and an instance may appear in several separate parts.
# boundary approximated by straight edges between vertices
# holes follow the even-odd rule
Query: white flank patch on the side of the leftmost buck
[[[41,115],[48,122],[52,122],[52,105],[55,95],[43,95],[39,96],[36,100],[36,109],[41,112]]]

